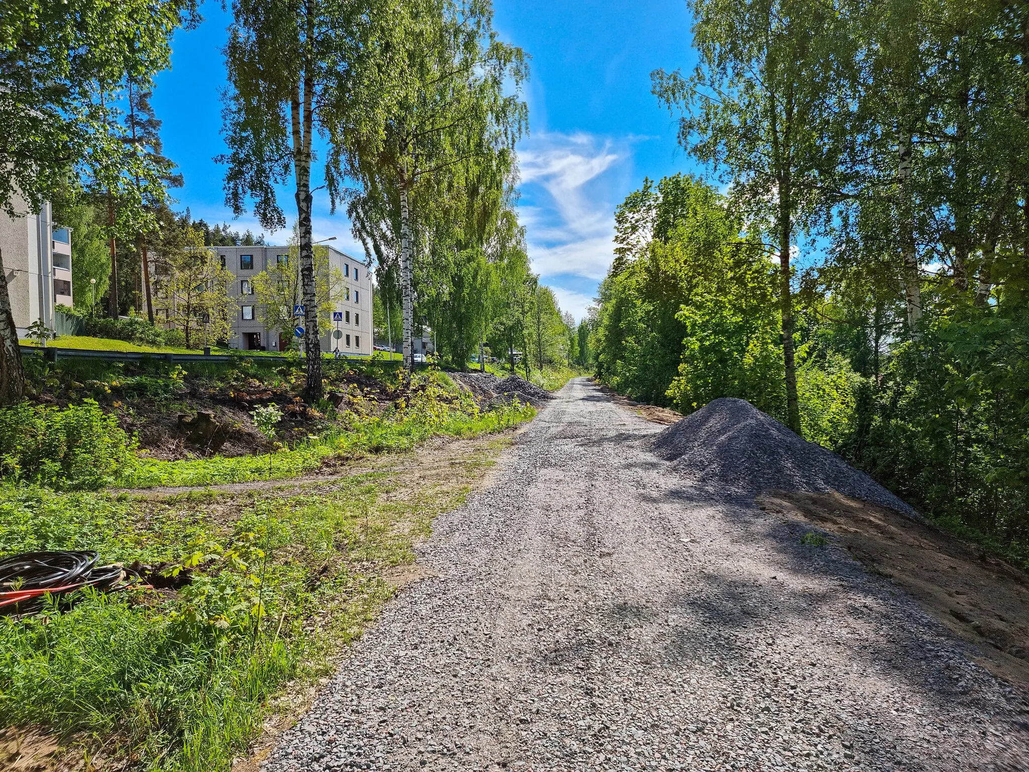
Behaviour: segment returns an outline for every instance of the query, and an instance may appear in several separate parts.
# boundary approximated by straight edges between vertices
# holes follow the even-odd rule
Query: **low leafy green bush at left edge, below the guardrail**
[[[0,410],[0,475],[52,488],[95,489],[131,467],[135,444],[93,399],[65,410]]]

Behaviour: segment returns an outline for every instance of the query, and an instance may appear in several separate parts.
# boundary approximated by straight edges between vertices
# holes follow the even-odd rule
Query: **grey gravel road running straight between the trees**
[[[568,384],[262,768],[1029,769],[1025,692],[660,429]]]

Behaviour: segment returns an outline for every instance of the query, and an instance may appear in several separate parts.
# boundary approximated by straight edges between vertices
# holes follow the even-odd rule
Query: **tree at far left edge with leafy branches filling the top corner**
[[[196,0],[4,2],[0,208],[11,216],[38,212],[69,174],[88,169],[116,176],[132,170],[135,160],[108,133],[96,95],[130,73],[148,86],[168,66],[172,34],[196,21]],[[3,275],[0,271],[0,402],[11,402],[24,395],[25,379]]]

